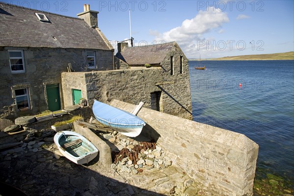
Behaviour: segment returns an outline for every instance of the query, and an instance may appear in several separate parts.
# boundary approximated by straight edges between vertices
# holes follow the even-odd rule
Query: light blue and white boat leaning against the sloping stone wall
[[[139,117],[97,100],[94,100],[93,113],[99,123],[128,137],[138,136],[146,125]]]

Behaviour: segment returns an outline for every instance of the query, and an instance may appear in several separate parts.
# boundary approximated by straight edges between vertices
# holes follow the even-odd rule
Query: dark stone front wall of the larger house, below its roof
[[[24,51],[25,73],[11,73],[8,49]],[[46,85],[59,84],[61,89],[61,73],[67,72],[68,63],[75,72],[113,69],[111,50],[89,50],[96,52],[97,69],[87,69],[86,49],[0,48],[0,118],[14,119],[47,110]],[[31,109],[25,112],[16,107],[14,90],[20,88],[29,89]],[[62,91],[60,96],[63,108]]]

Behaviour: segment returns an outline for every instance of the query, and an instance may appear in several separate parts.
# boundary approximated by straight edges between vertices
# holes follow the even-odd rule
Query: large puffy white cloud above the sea
[[[193,19],[186,19],[181,26],[172,28],[169,31],[159,33],[154,30],[149,30],[149,34],[155,37],[157,42],[176,41],[184,53],[189,56],[198,56],[199,47],[197,43],[200,40],[205,40],[203,34],[210,32],[212,29],[220,28],[224,23],[228,23],[229,18],[227,13],[220,9],[209,7],[208,10],[200,10]],[[223,30],[219,31],[220,33]],[[203,51],[205,52],[205,51]]]

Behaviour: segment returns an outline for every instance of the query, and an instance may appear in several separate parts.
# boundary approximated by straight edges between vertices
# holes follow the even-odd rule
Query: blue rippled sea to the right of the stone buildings
[[[189,72],[193,120],[245,134],[258,168],[294,180],[294,61],[189,61]]]

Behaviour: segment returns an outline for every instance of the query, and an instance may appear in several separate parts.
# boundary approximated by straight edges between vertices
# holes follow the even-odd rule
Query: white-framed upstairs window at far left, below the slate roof
[[[23,50],[8,50],[11,73],[25,73]]]

